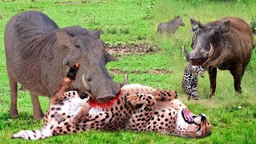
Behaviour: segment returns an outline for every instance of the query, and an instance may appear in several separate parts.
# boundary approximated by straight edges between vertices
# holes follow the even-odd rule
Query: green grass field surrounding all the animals
[[[215,97],[208,98],[210,82],[198,78],[201,98],[187,101],[181,82],[186,62],[182,58],[182,45],[190,46],[193,35],[190,18],[202,23],[226,16],[240,17],[251,22],[256,15],[256,2],[243,0],[0,0],[0,143],[34,143],[21,139],[10,139],[23,129],[39,129],[42,121],[34,121],[32,104],[27,92],[19,91],[18,118],[10,118],[10,88],[6,74],[3,35],[6,22],[19,12],[41,10],[60,27],[79,25],[90,30],[102,29],[102,40],[118,43],[153,42],[159,50],[156,54],[122,55],[119,62],[111,62],[107,68],[122,70],[154,70],[165,68],[171,74],[129,74],[129,83],[141,83],[162,89],[178,91],[179,99],[194,114],[204,113],[210,118],[212,134],[202,139],[177,138],[156,133],[131,131],[95,131],[82,134],[55,136],[36,143],[255,143],[256,142],[256,55],[255,49],[246,74],[242,78],[241,95],[234,92],[234,82],[229,71],[218,70]],[[185,27],[180,27],[174,36],[158,38],[159,22],[167,22],[178,14]],[[190,48],[189,48],[190,49]],[[122,74],[115,80],[120,82]],[[47,110],[48,98],[40,97],[42,109]],[[238,109],[241,106],[241,109]]]

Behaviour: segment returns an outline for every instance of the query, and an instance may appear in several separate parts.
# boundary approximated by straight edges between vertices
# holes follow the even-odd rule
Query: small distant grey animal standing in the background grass
[[[180,16],[174,16],[170,22],[162,22],[158,25],[158,34],[171,33],[174,34],[179,26],[185,26]]]

